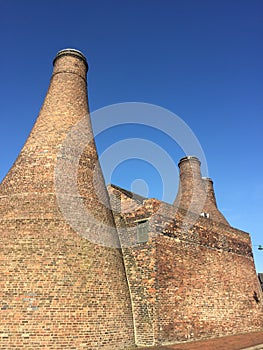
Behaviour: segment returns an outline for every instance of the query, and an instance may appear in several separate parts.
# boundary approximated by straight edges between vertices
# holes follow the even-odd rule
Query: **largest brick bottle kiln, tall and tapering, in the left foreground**
[[[103,235],[117,244],[118,236],[111,211],[98,200],[99,193],[108,201],[99,167],[96,190],[93,186],[97,153],[86,68],[76,52],[66,50],[57,57],[39,117],[0,187],[1,349],[122,349],[134,344],[121,251],[96,244]],[[79,133],[72,135],[75,143],[68,149],[62,145],[84,117],[92,140],[78,159]],[[62,214],[59,196],[72,200],[67,209],[79,231]],[[85,208],[81,217],[76,199]],[[97,225],[87,225],[91,217]]]

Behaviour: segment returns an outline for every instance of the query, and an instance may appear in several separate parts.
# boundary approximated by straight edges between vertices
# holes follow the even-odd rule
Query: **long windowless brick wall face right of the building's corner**
[[[262,329],[262,293],[249,235],[200,220],[157,235],[159,341]]]

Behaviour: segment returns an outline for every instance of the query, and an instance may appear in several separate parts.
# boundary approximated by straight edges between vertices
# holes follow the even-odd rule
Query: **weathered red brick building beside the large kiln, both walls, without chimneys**
[[[114,192],[109,188],[111,199]],[[129,201],[134,207],[125,193],[119,191],[119,198],[126,209]],[[154,199],[122,213],[121,219],[115,214],[125,245],[138,345],[263,329],[263,295],[249,235],[190,216]],[[149,219],[148,241],[140,243],[137,225],[143,218]]]

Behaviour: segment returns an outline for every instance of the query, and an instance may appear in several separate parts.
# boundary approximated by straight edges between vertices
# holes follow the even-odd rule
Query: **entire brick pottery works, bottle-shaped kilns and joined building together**
[[[113,218],[98,200],[95,172],[106,204],[108,193],[87,68],[77,50],[57,54],[39,117],[0,186],[0,348],[125,349],[262,330],[249,235],[219,212],[197,158],[179,163],[174,205],[111,185]],[[94,220],[79,221],[79,203]]]

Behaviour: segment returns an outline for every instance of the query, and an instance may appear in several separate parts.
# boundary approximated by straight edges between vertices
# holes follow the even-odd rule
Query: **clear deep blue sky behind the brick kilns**
[[[251,234],[263,272],[262,36],[262,0],[0,0],[0,180],[39,113],[56,53],[81,50],[94,127],[116,104],[160,112],[155,125],[127,113],[123,125],[101,128],[105,181],[172,202],[190,147],[166,132],[177,120],[204,156],[219,209]]]

